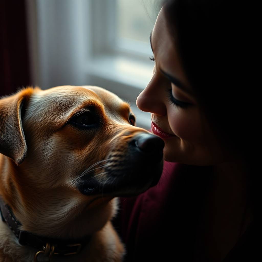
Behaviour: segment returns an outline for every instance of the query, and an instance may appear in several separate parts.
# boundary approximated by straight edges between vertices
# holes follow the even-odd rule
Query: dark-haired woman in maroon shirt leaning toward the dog
[[[257,116],[247,99],[246,10],[176,0],[157,17],[153,75],[137,106],[152,113],[167,162],[156,187],[122,200],[126,261],[253,261]]]

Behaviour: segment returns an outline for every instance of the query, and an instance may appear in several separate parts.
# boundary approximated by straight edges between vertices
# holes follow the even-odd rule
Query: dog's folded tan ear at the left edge
[[[21,112],[28,102],[33,88],[0,99],[0,153],[19,165],[26,156],[26,141]]]

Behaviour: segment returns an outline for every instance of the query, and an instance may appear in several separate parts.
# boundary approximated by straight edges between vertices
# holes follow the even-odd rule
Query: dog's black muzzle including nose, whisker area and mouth
[[[143,193],[159,182],[163,169],[164,141],[139,133],[125,146],[113,146],[108,161],[91,176],[84,176],[79,190],[85,195],[130,196]]]

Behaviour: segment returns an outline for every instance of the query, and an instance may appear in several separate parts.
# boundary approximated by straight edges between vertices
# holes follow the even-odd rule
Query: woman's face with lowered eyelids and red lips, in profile
[[[138,96],[137,106],[152,113],[152,131],[165,141],[167,161],[189,165],[221,163],[225,161],[222,150],[200,111],[174,42],[161,9],[151,35],[153,75]]]

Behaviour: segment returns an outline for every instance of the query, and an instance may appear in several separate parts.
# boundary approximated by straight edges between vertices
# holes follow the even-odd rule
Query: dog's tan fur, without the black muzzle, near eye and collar
[[[93,133],[68,124],[90,105],[101,116],[102,130]],[[27,88],[0,100],[0,196],[21,229],[52,238],[92,235],[79,254],[50,261],[122,261],[124,246],[110,222],[117,199],[83,195],[77,182],[112,148],[111,159],[119,159],[134,134],[147,132],[129,124],[129,111],[119,97],[94,86]],[[107,177],[99,173],[101,165],[94,168],[103,182]],[[33,261],[39,251],[21,246],[1,220],[0,236],[0,262]]]

